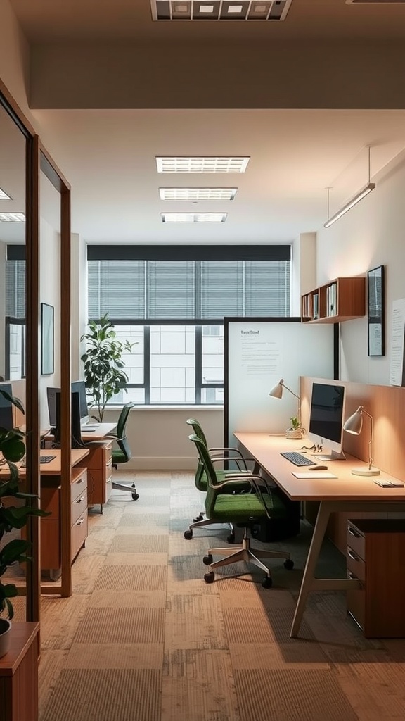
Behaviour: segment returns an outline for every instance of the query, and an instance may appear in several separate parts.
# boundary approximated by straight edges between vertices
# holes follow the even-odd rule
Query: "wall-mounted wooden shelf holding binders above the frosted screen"
[[[303,323],[340,323],[365,315],[365,278],[336,278],[301,296]]]

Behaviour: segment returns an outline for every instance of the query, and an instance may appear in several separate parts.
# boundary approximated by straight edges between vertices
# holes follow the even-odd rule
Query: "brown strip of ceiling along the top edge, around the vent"
[[[60,40],[191,40],[405,37],[405,5],[293,0],[285,21],[153,22],[149,0],[11,0],[30,42]]]

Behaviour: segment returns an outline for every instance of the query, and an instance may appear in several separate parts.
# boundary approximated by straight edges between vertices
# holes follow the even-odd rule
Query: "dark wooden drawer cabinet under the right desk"
[[[404,521],[347,522],[347,575],[362,583],[359,590],[347,591],[347,610],[365,637],[405,637],[404,564]]]

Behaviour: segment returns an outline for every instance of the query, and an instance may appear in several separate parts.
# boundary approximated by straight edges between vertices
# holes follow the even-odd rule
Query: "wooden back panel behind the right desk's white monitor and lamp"
[[[308,428],[311,389],[313,381],[324,379],[301,377],[301,415],[303,425]],[[345,418],[360,406],[373,416],[373,466],[392,476],[405,480],[405,388],[399,386],[373,386],[350,381],[337,381],[346,393]],[[365,417],[360,435],[344,433],[343,448],[347,453],[368,463],[370,441],[370,419]],[[355,478],[355,477],[353,477]],[[356,513],[357,518],[375,514]],[[347,516],[335,513],[328,526],[328,535],[343,552],[347,547]]]

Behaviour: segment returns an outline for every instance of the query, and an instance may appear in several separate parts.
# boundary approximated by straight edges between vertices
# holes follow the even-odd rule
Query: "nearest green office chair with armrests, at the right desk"
[[[226,480],[218,482],[215,474],[213,462],[210,454],[205,447],[203,441],[194,433],[189,436],[190,441],[195,443],[200,462],[203,464],[205,473],[208,478],[208,490],[205,496],[205,513],[212,523],[235,523],[236,526],[244,528],[244,538],[241,546],[237,549],[233,548],[210,548],[208,554],[203,558],[205,565],[210,566],[210,571],[205,573],[205,583],[213,583],[215,579],[214,569],[220,566],[226,566],[231,563],[245,561],[252,563],[264,570],[266,575],[262,581],[264,588],[270,588],[272,585],[272,576],[270,569],[264,565],[261,559],[267,558],[284,558],[284,567],[291,569],[294,567],[293,561],[290,559],[288,552],[264,551],[261,549],[252,550],[250,544],[249,531],[255,524],[259,523],[263,518],[285,518],[287,511],[285,505],[280,498],[272,495],[270,488],[264,482],[261,476],[249,474],[242,478],[237,476],[228,476]],[[251,486],[250,493],[234,493],[229,492],[229,485],[235,488],[236,484],[246,484],[249,482]],[[189,539],[191,536],[184,537]],[[220,555],[223,558],[213,562],[213,556]]]

